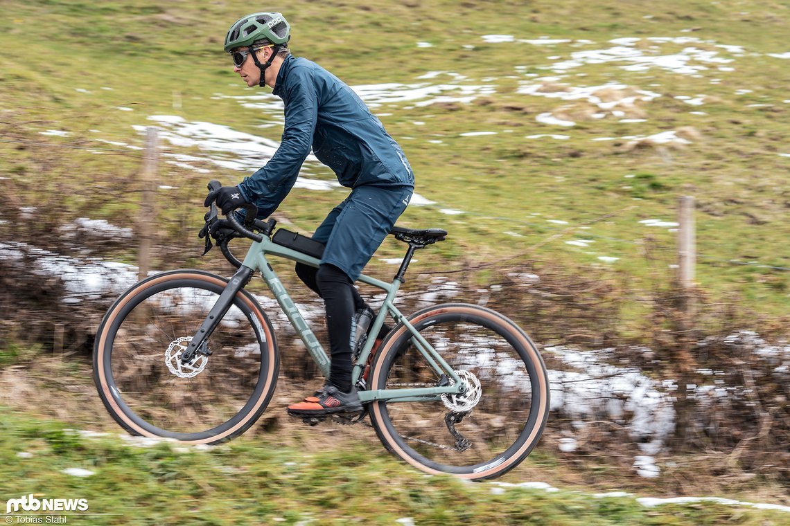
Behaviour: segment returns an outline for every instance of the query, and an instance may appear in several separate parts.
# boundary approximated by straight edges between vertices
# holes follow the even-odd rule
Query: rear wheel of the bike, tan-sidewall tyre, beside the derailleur
[[[408,318],[467,385],[464,394],[371,404],[378,438],[428,473],[492,479],[523,461],[543,432],[549,382],[535,344],[505,316],[470,304],[444,304]],[[371,389],[446,386],[403,323],[382,342]]]

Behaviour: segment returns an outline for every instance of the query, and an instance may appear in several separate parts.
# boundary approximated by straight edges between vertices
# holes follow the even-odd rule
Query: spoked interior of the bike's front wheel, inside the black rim
[[[217,297],[219,293],[194,287],[167,289],[141,300],[115,328],[115,388],[132,412],[156,427],[180,433],[211,429],[231,420],[256,390],[260,344],[250,323],[236,321],[247,318],[235,306],[225,318],[231,323],[220,323],[208,339],[213,354],[198,356],[205,360],[203,368],[178,363],[186,338],[191,339]],[[177,343],[179,338],[184,343]],[[194,376],[174,374],[183,367],[191,371],[183,374]]]

